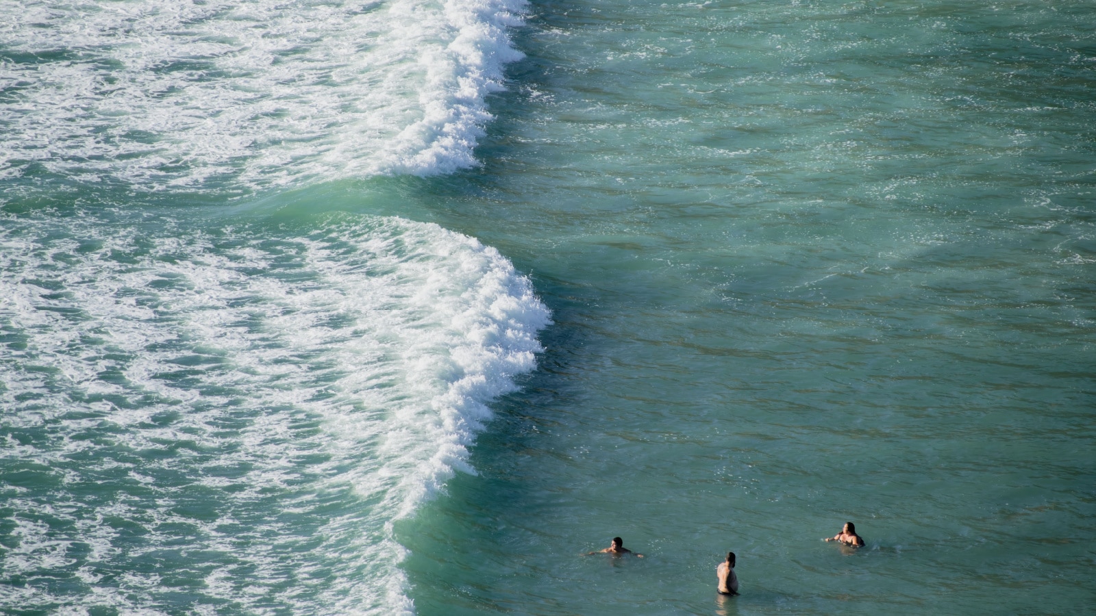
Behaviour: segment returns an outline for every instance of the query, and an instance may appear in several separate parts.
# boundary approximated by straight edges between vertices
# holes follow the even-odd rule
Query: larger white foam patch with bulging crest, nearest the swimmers
[[[398,218],[103,216],[0,225],[0,611],[411,612],[392,523],[534,367],[528,280]]]

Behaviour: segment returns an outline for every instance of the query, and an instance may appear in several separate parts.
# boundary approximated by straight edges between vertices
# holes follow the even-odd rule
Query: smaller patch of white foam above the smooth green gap
[[[524,0],[0,0],[0,180],[254,190],[476,163]]]

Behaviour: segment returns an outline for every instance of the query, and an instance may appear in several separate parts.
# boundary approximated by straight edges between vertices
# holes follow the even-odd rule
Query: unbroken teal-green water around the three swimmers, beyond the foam
[[[431,190],[556,326],[403,527],[420,613],[1093,609],[1094,5],[534,13]]]

